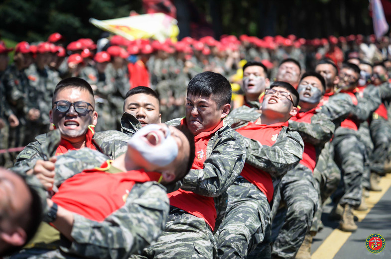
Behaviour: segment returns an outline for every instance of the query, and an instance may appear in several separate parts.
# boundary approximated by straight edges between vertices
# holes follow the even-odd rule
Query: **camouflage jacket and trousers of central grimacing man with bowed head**
[[[181,119],[167,122],[179,125]],[[191,170],[182,180],[181,189],[214,197],[217,219],[215,229],[225,214],[227,189],[242,172],[246,151],[243,137],[226,121],[208,142],[203,170]],[[132,258],[215,258],[216,242],[204,219],[171,206],[168,222],[157,242],[144,249],[142,257]]]

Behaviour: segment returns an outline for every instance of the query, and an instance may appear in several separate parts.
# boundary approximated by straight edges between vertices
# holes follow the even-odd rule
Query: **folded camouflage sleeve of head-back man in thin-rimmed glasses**
[[[260,142],[245,138],[247,143],[247,159],[249,165],[264,170],[272,177],[281,178],[293,169],[302,159],[304,143],[300,134],[284,127],[272,146],[261,145]]]

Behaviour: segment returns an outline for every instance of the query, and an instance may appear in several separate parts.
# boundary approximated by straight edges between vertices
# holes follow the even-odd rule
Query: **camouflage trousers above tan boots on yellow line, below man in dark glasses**
[[[362,179],[366,172],[366,149],[355,134],[339,134],[332,141],[335,162],[341,170],[342,193],[339,203],[360,206],[362,197]]]

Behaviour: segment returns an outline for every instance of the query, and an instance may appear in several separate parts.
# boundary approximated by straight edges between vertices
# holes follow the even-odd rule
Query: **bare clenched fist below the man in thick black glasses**
[[[38,160],[33,169],[27,171],[27,174],[34,174],[42,183],[46,190],[51,190],[54,184],[54,168],[57,158],[51,157],[49,161]]]

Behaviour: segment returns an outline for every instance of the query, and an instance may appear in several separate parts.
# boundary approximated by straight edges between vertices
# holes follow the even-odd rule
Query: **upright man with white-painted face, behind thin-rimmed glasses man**
[[[242,123],[255,121],[260,116],[261,100],[264,91],[270,85],[267,78],[267,69],[257,61],[249,61],[243,66],[243,90],[245,92],[245,104],[231,111],[229,118],[234,120],[233,128]]]

